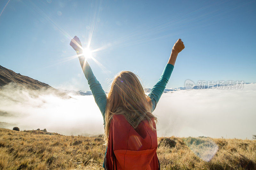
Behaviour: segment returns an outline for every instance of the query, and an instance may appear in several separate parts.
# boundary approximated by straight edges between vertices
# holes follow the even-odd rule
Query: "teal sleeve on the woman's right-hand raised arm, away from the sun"
[[[155,110],[156,104],[164,92],[165,86],[171,77],[173,68],[174,66],[172,64],[166,64],[162,76],[148,94],[148,97],[152,101],[152,112]]]

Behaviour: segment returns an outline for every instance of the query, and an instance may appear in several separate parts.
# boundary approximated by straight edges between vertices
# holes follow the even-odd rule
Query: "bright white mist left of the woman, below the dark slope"
[[[0,90],[0,111],[8,114],[0,116],[0,122],[15,124],[20,130],[46,128],[63,135],[104,133],[103,117],[93,96],[70,96],[60,97],[51,90],[4,86]],[[12,128],[8,124],[5,126]]]

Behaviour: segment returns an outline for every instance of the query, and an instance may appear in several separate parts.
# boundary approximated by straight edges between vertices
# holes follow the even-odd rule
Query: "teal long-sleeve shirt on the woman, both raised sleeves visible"
[[[152,112],[155,110],[156,104],[158,103],[161,95],[164,92],[165,86],[171,77],[173,68],[174,66],[172,64],[166,64],[161,77],[159,78],[156,85],[154,85],[150,93],[148,94],[148,97],[152,101]],[[94,76],[92,69],[87,61],[85,63],[84,75],[88,81],[94,100],[98,105],[98,107],[100,108],[100,112],[103,116],[104,127],[105,127],[105,110],[106,110],[106,104],[107,104],[107,95],[102,89],[100,82]]]

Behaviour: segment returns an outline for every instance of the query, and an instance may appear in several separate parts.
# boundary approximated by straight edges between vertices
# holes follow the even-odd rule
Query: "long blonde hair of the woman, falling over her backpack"
[[[124,115],[127,122],[135,129],[141,121],[148,120],[153,128],[157,121],[152,112],[152,102],[145,94],[136,74],[131,71],[120,72],[113,80],[107,97],[105,111],[105,140],[108,143],[110,122],[114,115]]]

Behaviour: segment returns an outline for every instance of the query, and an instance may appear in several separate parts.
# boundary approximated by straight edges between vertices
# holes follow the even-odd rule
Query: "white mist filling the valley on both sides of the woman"
[[[157,136],[249,138],[256,134],[256,84],[242,90],[191,89],[164,93],[154,115]],[[51,90],[6,85],[0,90],[1,128],[47,129],[63,135],[103,134],[92,95],[60,97]]]

